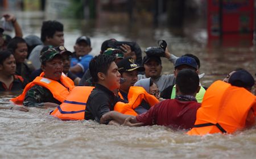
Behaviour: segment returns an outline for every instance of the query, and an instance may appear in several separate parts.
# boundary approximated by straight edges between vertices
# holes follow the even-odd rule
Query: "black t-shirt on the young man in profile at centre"
[[[93,89],[88,97],[85,108],[85,119],[96,120],[100,123],[101,116],[114,110],[114,105],[117,102],[118,97],[116,97],[112,91],[105,86],[96,84],[95,89]]]

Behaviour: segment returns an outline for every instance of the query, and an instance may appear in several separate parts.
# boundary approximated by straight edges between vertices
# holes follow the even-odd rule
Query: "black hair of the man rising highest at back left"
[[[41,28],[41,40],[46,41],[46,37],[53,37],[56,31],[63,31],[63,24],[56,20],[44,21]]]

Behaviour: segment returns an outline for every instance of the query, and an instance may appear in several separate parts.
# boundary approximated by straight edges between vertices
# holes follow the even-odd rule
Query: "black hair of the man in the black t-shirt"
[[[115,61],[114,56],[98,55],[92,58],[89,63],[90,76],[94,83],[98,82],[98,73],[107,74],[109,66]]]

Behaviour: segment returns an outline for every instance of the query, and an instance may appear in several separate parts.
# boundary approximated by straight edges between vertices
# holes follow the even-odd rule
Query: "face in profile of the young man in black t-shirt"
[[[118,89],[120,86],[120,73],[118,72],[118,67],[115,62],[112,62],[109,66],[107,74],[105,74],[104,81],[109,90]]]

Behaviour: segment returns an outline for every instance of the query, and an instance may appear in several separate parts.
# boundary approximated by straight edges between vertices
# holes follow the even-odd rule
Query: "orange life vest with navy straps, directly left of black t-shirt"
[[[77,86],[50,115],[62,120],[83,120],[87,99],[94,87]]]

